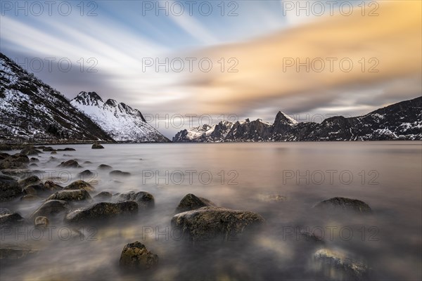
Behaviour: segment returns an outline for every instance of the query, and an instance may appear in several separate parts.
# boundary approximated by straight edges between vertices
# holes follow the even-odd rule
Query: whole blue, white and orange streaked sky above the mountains
[[[245,118],[362,115],[421,96],[421,1],[1,1],[0,51],[167,137]]]

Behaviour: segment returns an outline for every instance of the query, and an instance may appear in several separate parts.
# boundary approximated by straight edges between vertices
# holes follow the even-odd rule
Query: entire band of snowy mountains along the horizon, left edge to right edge
[[[359,117],[297,122],[283,112],[261,119],[219,122],[179,131],[174,142],[422,140],[422,97]],[[95,92],[68,100],[0,53],[1,142],[170,142],[139,110]]]

